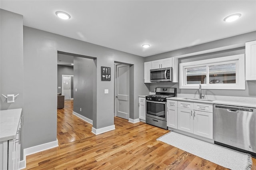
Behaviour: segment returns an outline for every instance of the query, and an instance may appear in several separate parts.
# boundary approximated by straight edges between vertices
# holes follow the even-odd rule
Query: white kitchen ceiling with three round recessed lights
[[[143,57],[256,31],[256,0],[1,0],[24,25]],[[56,11],[70,14],[61,20]],[[223,19],[234,13],[235,22]],[[142,44],[149,43],[147,49]]]

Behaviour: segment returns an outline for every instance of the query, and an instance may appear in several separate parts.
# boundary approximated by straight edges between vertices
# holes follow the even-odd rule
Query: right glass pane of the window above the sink
[[[209,66],[209,83],[236,83],[236,63]]]

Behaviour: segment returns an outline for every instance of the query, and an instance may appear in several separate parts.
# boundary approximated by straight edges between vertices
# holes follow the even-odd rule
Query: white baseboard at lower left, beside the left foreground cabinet
[[[44,151],[44,150],[48,150],[48,149],[51,149],[51,148],[55,148],[55,147],[58,147],[58,146],[59,146],[58,145],[58,139],[56,139],[53,142],[48,142],[48,143],[44,143],[44,144],[40,144],[40,145],[37,145],[37,146],[33,146],[33,147],[30,147],[30,148],[24,149],[23,150],[23,160],[21,160],[19,162],[19,169],[26,168],[26,156],[37,153],[37,152],[41,152],[41,151]]]

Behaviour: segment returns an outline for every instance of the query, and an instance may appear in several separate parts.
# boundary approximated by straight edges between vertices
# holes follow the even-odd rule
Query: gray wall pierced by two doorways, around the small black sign
[[[144,57],[24,26],[24,148],[56,140],[57,51],[97,58],[96,97],[92,99],[96,129],[114,125],[114,80],[101,81],[100,66],[111,67],[114,75],[114,61],[133,64],[134,103],[138,103],[138,95],[149,92],[143,82]],[[109,94],[104,94],[104,89],[108,89]],[[44,109],[38,109],[42,107]],[[138,119],[138,105],[133,107],[130,117]]]

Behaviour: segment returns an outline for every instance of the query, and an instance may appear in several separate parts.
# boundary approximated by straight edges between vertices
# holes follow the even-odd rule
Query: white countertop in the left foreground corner
[[[0,142],[16,138],[22,109],[0,111]]]

